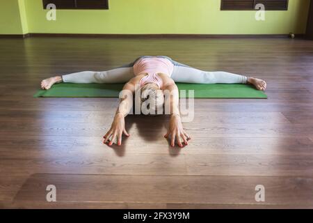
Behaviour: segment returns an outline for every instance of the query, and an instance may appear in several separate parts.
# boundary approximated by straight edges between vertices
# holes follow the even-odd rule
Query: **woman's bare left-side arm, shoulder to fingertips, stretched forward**
[[[129,134],[125,130],[125,116],[129,114],[129,111],[133,104],[133,93],[135,91],[135,84],[133,82],[128,82],[123,87],[122,98],[120,99],[120,105],[115,112],[111,128],[104,135],[104,144],[109,141],[109,146],[113,142],[117,141],[118,146],[122,144],[122,134],[124,133],[127,137]],[[111,138],[111,139],[110,139]],[[117,138],[117,140],[115,140]]]

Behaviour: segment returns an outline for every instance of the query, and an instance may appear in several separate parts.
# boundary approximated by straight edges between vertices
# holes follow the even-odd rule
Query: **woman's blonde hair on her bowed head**
[[[141,86],[141,112],[143,114],[162,114],[164,104],[164,94],[154,83],[147,83]],[[147,111],[143,111],[146,108]]]

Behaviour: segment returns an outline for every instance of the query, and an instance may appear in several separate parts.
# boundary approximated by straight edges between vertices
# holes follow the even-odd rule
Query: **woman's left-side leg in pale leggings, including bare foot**
[[[99,83],[99,84],[112,84],[112,83],[125,83],[129,79],[134,77],[132,63],[120,68],[115,68],[106,71],[83,71],[75,72],[69,75],[50,77],[44,79],[41,82],[42,89],[50,89],[53,84],[59,82],[77,83],[77,84],[88,84],[88,83]]]

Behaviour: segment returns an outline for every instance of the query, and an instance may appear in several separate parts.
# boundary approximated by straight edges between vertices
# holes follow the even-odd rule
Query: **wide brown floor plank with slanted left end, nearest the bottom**
[[[264,185],[266,204],[312,206],[312,183],[300,177],[35,174],[14,200],[46,201],[46,187],[53,184],[61,202],[257,204],[255,186]]]

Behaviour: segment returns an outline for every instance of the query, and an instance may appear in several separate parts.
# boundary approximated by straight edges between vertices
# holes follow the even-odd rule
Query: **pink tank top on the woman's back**
[[[141,86],[147,83],[154,83],[161,87],[163,86],[163,82],[161,77],[157,75],[157,73],[161,72],[170,77],[172,75],[172,70],[174,69],[174,65],[172,62],[166,58],[160,57],[148,57],[141,58],[136,61],[134,64],[134,75],[141,75],[143,73],[147,73],[145,77],[143,77],[140,81]]]

